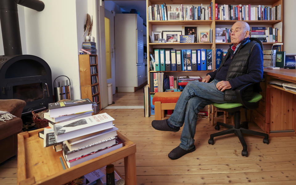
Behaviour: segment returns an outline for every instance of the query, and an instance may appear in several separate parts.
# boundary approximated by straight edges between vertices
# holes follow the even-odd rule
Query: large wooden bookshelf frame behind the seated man
[[[155,48],[173,48],[173,49],[212,49],[212,69],[215,70],[216,66],[216,48],[222,48],[224,51],[230,45],[231,43],[216,43],[215,42],[215,32],[216,27],[227,27],[230,28],[231,25],[233,25],[237,20],[173,20],[173,21],[159,21],[159,20],[149,20],[149,14],[148,9],[149,6],[155,7],[156,5],[166,3],[166,5],[185,5],[185,6],[200,6],[200,4],[203,4],[203,6],[208,6],[212,2],[213,4],[213,19],[215,19],[215,3],[219,5],[264,5],[264,6],[271,6],[274,7],[276,5],[281,4],[282,10],[281,10],[281,18],[282,20],[250,20],[250,21],[244,21],[247,22],[250,27],[252,26],[267,26],[267,27],[278,27],[282,28],[282,41],[284,40],[284,25],[283,25],[283,19],[284,19],[284,2],[283,0],[241,0],[241,1],[234,1],[234,0],[146,0],[146,6],[147,6],[147,58],[150,60],[150,54],[154,53]],[[181,8],[181,6],[180,6]],[[225,26],[224,26],[225,25]],[[167,27],[166,27],[167,26]],[[170,27],[172,28],[170,28]],[[179,26],[179,29],[178,29]],[[150,43],[150,37],[152,31],[161,31],[161,30],[184,30],[184,26],[188,27],[197,27],[197,36],[199,35],[199,31],[206,31],[206,30],[213,30],[213,43]],[[201,28],[201,29],[199,29]],[[206,28],[206,29],[205,29]],[[271,45],[275,42],[263,42],[264,49],[271,49]],[[187,47],[186,47],[187,46]],[[228,47],[229,48],[229,47]],[[283,48],[283,46],[282,46]],[[173,74],[175,75],[182,75],[182,74],[197,74],[201,77],[204,77],[208,72],[211,71],[150,71],[150,62],[147,62],[147,70],[148,70],[148,84],[150,84],[150,73],[155,72],[164,72],[166,74]],[[212,70],[212,71],[213,71]],[[151,87],[150,87],[151,88]],[[153,87],[152,87],[153,88]],[[154,94],[154,93],[150,93]]]

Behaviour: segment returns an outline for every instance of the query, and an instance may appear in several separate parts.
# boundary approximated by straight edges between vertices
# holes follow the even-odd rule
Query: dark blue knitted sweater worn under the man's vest
[[[219,72],[217,72],[217,70],[215,70],[215,71],[207,74],[207,75],[211,76],[211,79],[216,78],[217,80],[225,81],[228,68],[229,68],[230,63],[232,61],[231,56],[233,55],[233,50],[231,50],[231,52],[232,53],[230,54],[230,57],[224,62],[223,66],[221,67]],[[248,74],[244,74],[244,75],[241,75],[241,76],[238,76],[236,78],[232,78],[229,80],[232,90],[236,89],[239,86],[242,86],[242,85],[245,85],[248,83],[260,82],[262,80],[262,77],[263,77],[263,52],[262,52],[259,44],[256,44],[253,47],[252,53],[249,57],[248,70],[249,70]]]

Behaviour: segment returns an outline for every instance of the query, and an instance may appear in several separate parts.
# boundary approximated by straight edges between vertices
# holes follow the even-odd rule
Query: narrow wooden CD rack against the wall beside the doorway
[[[94,57],[95,64],[90,64],[90,57]],[[101,98],[100,98],[100,85],[99,85],[99,76],[98,73],[91,74],[91,67],[95,66],[98,71],[98,61],[97,55],[93,54],[80,54],[79,55],[79,76],[80,76],[80,90],[81,98],[88,98],[93,101],[93,97],[98,96],[97,98],[97,107],[98,110],[93,114],[101,111]],[[97,82],[92,83],[92,76],[97,77]],[[97,86],[97,92],[92,92],[92,87]]]

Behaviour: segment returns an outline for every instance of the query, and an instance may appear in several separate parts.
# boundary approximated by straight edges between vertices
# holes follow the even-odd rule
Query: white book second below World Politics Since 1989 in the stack
[[[96,143],[104,139],[112,138],[117,136],[118,128],[112,127],[103,131],[95,132],[88,135],[83,135],[78,138],[69,139],[64,141],[70,151],[79,149],[81,147]]]

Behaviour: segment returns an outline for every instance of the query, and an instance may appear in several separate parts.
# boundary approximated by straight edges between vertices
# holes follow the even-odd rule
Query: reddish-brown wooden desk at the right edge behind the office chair
[[[270,137],[296,136],[296,93],[268,82],[274,79],[296,83],[296,70],[264,69],[263,99],[252,111],[252,120]]]

